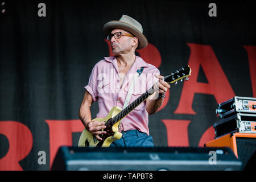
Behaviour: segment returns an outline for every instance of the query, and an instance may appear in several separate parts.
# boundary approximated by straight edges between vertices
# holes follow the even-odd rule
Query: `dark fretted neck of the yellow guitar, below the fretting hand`
[[[152,93],[154,93],[154,90],[152,92],[152,89],[148,89],[145,93],[143,93],[141,96],[139,96],[135,101],[131,102],[128,106],[126,106],[123,110],[121,110],[120,113],[115,115],[115,117],[112,118],[113,125],[120,121],[122,118],[124,118],[127,114],[129,114],[132,110],[135,109],[138,105],[140,105],[144,100],[147,99],[148,96],[150,96]]]

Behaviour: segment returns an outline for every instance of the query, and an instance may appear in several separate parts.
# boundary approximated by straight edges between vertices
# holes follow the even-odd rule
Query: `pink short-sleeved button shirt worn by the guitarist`
[[[136,60],[126,73],[122,87],[120,88],[117,59],[114,56],[105,57],[104,60],[99,61],[94,66],[85,89],[92,95],[94,102],[98,101],[99,112],[97,118],[105,118],[114,106],[122,109],[129,90],[129,84],[138,68],[141,67],[144,67],[144,69],[137,78],[129,104],[158,81],[155,74],[159,75],[159,70],[154,65],[146,63],[141,57],[136,56]],[[122,119],[119,128],[120,132],[139,130],[149,135],[146,101]]]

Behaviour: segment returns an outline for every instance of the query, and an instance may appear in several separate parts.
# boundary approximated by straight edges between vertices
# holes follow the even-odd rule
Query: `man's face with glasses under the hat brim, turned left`
[[[116,32],[123,32],[125,34],[131,35],[130,32],[128,32],[126,30],[118,29],[118,28],[112,30],[111,34],[115,34]],[[114,53],[114,55],[128,53],[131,51],[131,49],[133,47],[133,44],[134,44],[133,42],[134,42],[134,40],[130,36],[121,35],[121,38],[119,38],[119,39],[115,39],[114,36],[112,36],[112,38],[110,40],[112,52]]]

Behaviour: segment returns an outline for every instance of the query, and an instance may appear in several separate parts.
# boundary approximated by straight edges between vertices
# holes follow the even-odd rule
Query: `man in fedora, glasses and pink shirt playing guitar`
[[[104,25],[104,32],[110,41],[115,56],[105,57],[93,68],[85,95],[79,109],[79,117],[85,129],[92,133],[97,140],[106,134],[105,122],[92,121],[90,106],[98,101],[97,118],[108,115],[113,106],[123,107],[133,76],[137,71],[142,73],[133,83],[134,90],[130,102],[136,100],[148,88],[154,86],[155,91],[147,100],[142,102],[119,125],[118,131],[122,137],[112,142],[114,146],[154,146],[148,130],[148,114],[154,114],[162,105],[164,93],[170,89],[170,84],[163,81],[159,70],[154,65],[146,63],[135,55],[136,49],[147,46],[147,39],[142,34],[142,26],[137,20],[123,15],[119,21],[114,20]],[[157,89],[156,89],[157,88]]]

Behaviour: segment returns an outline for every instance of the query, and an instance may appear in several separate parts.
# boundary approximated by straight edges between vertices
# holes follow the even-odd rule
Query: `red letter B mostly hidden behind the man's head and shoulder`
[[[105,42],[108,44],[108,48],[109,48],[109,56],[114,56],[114,54],[112,53],[112,48],[110,45],[110,41],[108,41],[107,39],[104,39]],[[152,64],[154,65],[156,68],[159,68],[161,63],[162,63],[162,58],[160,55],[160,52],[158,50],[158,48],[156,48],[153,44],[148,43],[147,47],[143,48],[143,49],[139,49],[137,50],[137,52],[139,53],[139,56],[142,57],[142,59],[144,61],[146,61],[146,63]],[[166,98],[163,101],[162,106],[158,109],[162,110],[168,103],[169,101],[169,97],[170,97],[170,90],[167,90],[166,92]]]

